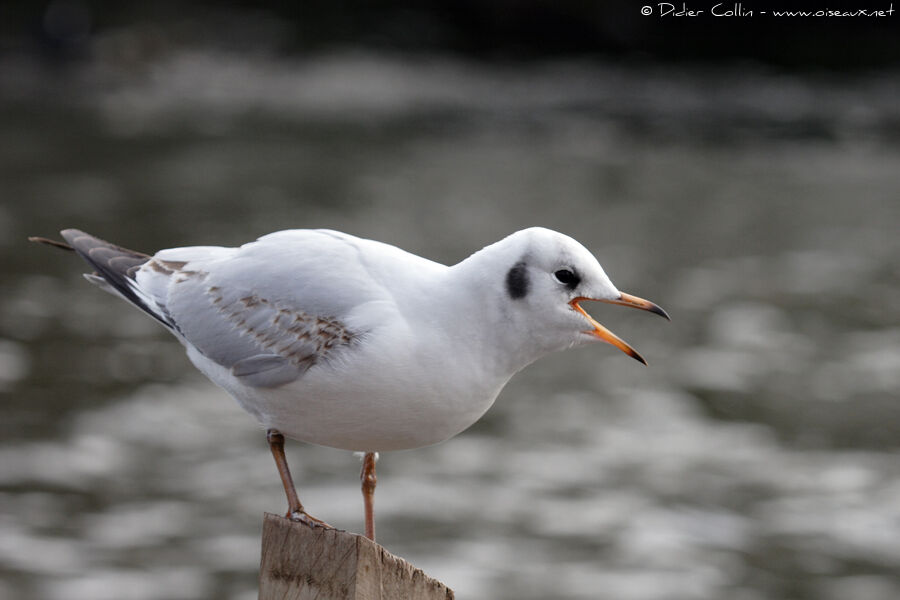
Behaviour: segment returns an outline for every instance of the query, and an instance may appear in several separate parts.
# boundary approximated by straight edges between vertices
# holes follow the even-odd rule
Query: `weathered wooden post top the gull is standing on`
[[[266,513],[259,600],[453,600],[453,590],[372,540]]]

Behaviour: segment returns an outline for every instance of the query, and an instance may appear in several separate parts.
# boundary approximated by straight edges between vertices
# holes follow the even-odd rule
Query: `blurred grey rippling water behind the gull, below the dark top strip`
[[[379,541],[461,599],[900,597],[895,66],[287,52],[279,17],[215,14],[70,14],[77,51],[0,57],[0,598],[255,598],[284,509],[251,417],[27,235],[328,227],[453,263],[531,225],[673,321],[591,307],[649,368],[549,357],[383,455]],[[288,457],[359,531],[358,459]]]

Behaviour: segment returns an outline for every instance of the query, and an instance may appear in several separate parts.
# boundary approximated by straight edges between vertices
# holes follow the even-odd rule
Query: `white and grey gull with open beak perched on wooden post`
[[[429,446],[475,423],[538,358],[606,342],[646,361],[582,308],[600,301],[668,319],[620,292],[564,234],[532,227],[453,266],[326,229],[293,229],[237,248],[153,256],[66,229],[85,278],[168,329],[188,358],[266,430],[288,501],[306,512],[284,438],[363,453],[366,536],[375,539],[377,453]]]

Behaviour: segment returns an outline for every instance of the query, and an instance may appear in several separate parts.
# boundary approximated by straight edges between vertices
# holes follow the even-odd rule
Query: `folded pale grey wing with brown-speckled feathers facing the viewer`
[[[350,350],[367,333],[357,309],[390,302],[353,240],[297,230],[240,248],[164,250],[136,287],[201,354],[247,385],[274,387]]]

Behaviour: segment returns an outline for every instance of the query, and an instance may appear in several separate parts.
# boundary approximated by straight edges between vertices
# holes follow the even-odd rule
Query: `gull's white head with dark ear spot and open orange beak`
[[[465,263],[479,266],[483,288],[496,299],[490,304],[508,325],[504,330],[514,333],[508,343],[519,347],[525,364],[550,352],[596,341],[612,344],[646,364],[631,346],[584,311],[580,303],[586,300],[631,306],[669,318],[652,302],[617,290],[584,246],[549,229],[518,231]]]

